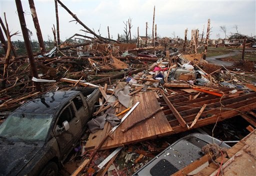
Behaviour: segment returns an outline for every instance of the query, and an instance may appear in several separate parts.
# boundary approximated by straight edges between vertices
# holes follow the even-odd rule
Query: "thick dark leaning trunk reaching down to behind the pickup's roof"
[[[15,0],[15,3],[16,3],[16,8],[17,8],[17,12],[18,12],[20,27],[21,27],[21,30],[22,30],[22,35],[23,35],[23,38],[24,38],[26,52],[27,52],[27,55],[28,55],[29,63],[30,63],[32,76],[35,77],[35,78],[38,78],[36,65],[34,63],[34,58],[33,58],[32,47],[30,45],[28,32],[27,32],[27,28],[26,28],[26,22],[25,22],[25,18],[24,18],[24,14],[23,14],[24,12],[23,12],[23,9],[22,9],[21,0]],[[34,84],[35,84],[36,90],[41,91],[40,83],[34,82]]]

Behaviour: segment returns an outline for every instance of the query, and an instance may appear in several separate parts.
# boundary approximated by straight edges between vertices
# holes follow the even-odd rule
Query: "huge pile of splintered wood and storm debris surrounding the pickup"
[[[72,176],[132,175],[168,146],[166,142],[155,146],[148,140],[236,115],[256,127],[255,73],[211,65],[200,53],[182,54],[178,50],[157,58],[137,57],[140,51],[164,51],[163,47],[135,47],[84,43],[53,48],[35,57],[38,79],[30,75],[26,57],[11,59],[0,90],[2,119],[44,92],[98,87],[102,95],[99,106],[61,171]],[[40,83],[41,92],[35,82]],[[112,164],[114,161],[118,166]]]

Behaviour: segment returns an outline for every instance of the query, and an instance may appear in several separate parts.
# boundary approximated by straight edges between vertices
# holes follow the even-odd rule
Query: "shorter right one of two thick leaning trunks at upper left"
[[[34,6],[34,1],[28,0],[28,3],[29,3],[31,15],[32,15],[33,22],[34,22],[34,28],[36,30],[36,35],[37,35],[38,43],[40,46],[40,51],[43,54],[46,52],[46,50],[45,50],[45,46],[44,46],[43,39],[42,39],[42,33],[41,33],[40,25],[38,22],[38,18],[37,18],[35,6]]]

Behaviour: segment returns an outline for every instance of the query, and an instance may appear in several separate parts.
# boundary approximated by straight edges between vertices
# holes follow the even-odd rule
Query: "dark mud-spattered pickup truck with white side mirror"
[[[57,176],[99,95],[94,88],[53,91],[13,111],[0,125],[0,176]]]

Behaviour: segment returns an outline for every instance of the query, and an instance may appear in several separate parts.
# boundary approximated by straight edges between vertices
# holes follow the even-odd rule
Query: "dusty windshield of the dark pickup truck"
[[[0,137],[44,141],[52,121],[50,114],[12,113],[0,126]]]

